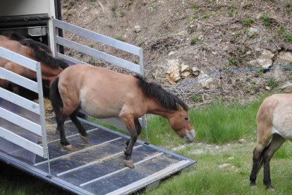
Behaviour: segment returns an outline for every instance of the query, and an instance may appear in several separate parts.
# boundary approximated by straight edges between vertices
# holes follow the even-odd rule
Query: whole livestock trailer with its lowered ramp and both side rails
[[[118,67],[143,74],[142,48],[111,37],[80,28],[61,20],[59,0],[10,0],[1,2],[0,32],[17,31],[26,37],[46,43],[56,57],[71,64],[85,62],[68,57],[62,47],[74,49]],[[70,32],[100,42],[137,57],[135,64],[126,59],[101,52],[62,36]],[[0,57],[25,66],[37,74],[37,81],[0,68],[0,79],[7,79],[37,95],[33,101],[25,95],[16,95],[0,88],[0,160],[20,170],[74,194],[129,194],[159,184],[159,181],[195,163],[171,151],[137,141],[133,149],[135,169],[124,167],[123,147],[129,138],[113,129],[80,119],[90,137],[83,143],[75,126],[65,124],[68,141],[74,151],[63,150],[59,135],[55,134],[54,117],[44,116],[44,95],[39,62],[0,47]],[[123,84],[123,83],[121,83]],[[119,119],[107,119],[119,129],[126,127]],[[146,118],[140,119],[147,130]]]

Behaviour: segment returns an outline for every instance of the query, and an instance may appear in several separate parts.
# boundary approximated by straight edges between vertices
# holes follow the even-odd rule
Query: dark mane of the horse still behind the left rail
[[[7,30],[1,32],[1,35],[8,37],[10,40],[15,40],[20,42],[21,45],[30,47],[33,51],[33,55],[36,61],[40,61],[44,64],[51,66],[53,69],[66,69],[68,64],[62,59],[57,59],[52,56],[51,49],[49,46],[43,44],[42,42],[37,42],[32,39],[20,35],[18,32]]]

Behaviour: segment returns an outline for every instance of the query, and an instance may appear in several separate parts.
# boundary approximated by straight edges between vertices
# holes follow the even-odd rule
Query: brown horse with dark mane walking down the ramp
[[[56,114],[57,130],[61,145],[71,150],[66,140],[64,122],[70,117],[81,137],[87,141],[83,126],[75,117],[82,108],[95,118],[119,117],[130,132],[124,153],[125,165],[133,168],[133,146],[141,131],[138,118],[145,113],[158,114],[185,142],[195,138],[193,125],[188,117],[188,106],[160,85],[147,83],[140,76],[128,76],[89,65],[70,66],[55,78],[50,88],[50,100]]]

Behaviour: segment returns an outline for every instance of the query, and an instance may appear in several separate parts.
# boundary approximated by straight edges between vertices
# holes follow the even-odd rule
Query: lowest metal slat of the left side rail
[[[25,148],[26,150],[30,150],[32,153],[35,153],[40,156],[43,155],[42,146],[39,146],[36,143],[33,143],[26,138],[18,136],[17,134],[14,134],[11,131],[4,129],[1,126],[0,126],[0,130],[1,130],[0,136],[2,138],[5,138],[6,140],[11,141],[12,143],[15,143],[16,145],[21,146]]]

